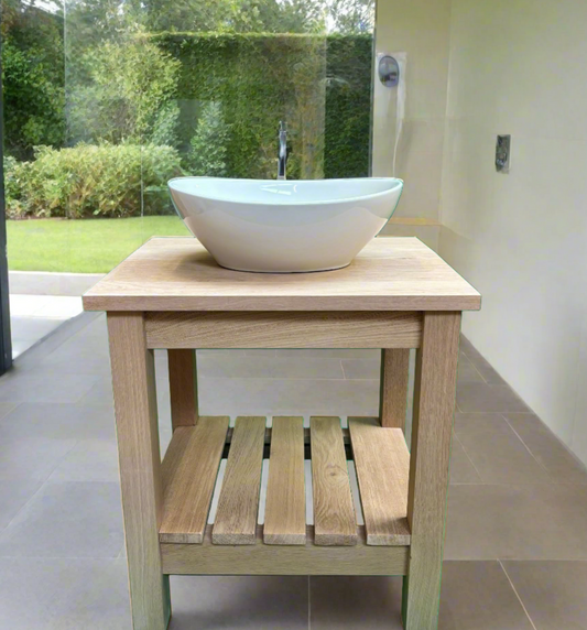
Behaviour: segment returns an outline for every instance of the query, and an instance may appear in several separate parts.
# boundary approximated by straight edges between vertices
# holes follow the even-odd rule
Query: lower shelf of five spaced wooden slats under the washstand
[[[269,476],[264,524],[258,525],[263,452],[269,456]],[[206,526],[222,454],[228,461],[219,484],[218,509],[214,524]],[[306,495],[311,488],[306,487],[304,457],[312,459],[314,525],[309,528]],[[355,459],[365,526],[357,525],[347,469],[350,458]],[[274,417],[273,427],[268,428],[264,417],[243,416],[229,430],[228,417],[202,416],[195,426],[176,428],[163,459],[163,557],[174,558],[170,563],[185,557],[207,563],[215,548],[231,547],[239,562],[246,551],[237,552],[237,546],[247,545],[250,553],[259,554],[254,557],[261,566],[270,553],[276,554],[275,562],[289,562],[294,547],[300,550],[296,558],[319,547],[346,548],[349,557],[376,554],[377,548],[407,548],[409,469],[402,431],[384,428],[376,419],[349,419],[349,430],[345,430],[338,417],[316,416],[311,417],[308,431],[302,417]],[[182,547],[184,560],[178,560],[174,545]],[[372,551],[351,552],[355,545]],[[192,546],[208,551],[189,551]],[[259,546],[264,551],[251,551]],[[327,575],[327,558],[338,562],[338,553],[320,552],[323,560],[315,566],[311,560],[302,565],[314,566],[317,573],[313,575]],[[389,553],[390,562],[403,562],[400,552]],[[373,558],[373,566],[377,562]]]

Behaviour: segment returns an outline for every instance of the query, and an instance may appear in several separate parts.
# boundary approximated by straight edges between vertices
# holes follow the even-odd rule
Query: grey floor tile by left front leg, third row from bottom
[[[115,439],[80,439],[63,458],[50,481],[119,481]]]

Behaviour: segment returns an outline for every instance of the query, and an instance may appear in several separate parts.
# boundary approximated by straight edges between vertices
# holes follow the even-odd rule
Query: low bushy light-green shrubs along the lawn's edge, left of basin
[[[6,160],[7,210],[10,217],[141,215],[149,188],[150,213],[166,211],[165,184],[182,174],[171,146],[78,144],[70,149],[35,148],[35,160]]]

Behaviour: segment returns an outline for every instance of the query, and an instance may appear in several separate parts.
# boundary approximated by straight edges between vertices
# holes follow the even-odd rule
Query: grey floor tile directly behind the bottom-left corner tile
[[[116,482],[47,482],[0,533],[0,556],[111,557],[122,545]]]

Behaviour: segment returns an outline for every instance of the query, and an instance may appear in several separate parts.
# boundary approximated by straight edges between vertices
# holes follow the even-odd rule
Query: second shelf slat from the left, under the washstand
[[[214,544],[256,542],[264,439],[264,417],[237,417],[214,522]]]

